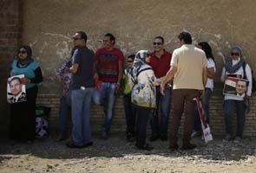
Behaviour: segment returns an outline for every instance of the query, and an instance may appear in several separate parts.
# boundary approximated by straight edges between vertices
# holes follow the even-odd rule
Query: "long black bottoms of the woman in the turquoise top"
[[[27,101],[10,105],[10,138],[33,140],[36,133],[37,86],[26,90]]]

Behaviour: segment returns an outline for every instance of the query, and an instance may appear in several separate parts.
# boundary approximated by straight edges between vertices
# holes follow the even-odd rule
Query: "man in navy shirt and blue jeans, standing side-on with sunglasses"
[[[87,35],[78,31],[73,35],[75,52],[72,65],[66,68],[71,77],[72,139],[69,148],[88,147],[93,143],[90,130],[90,101],[94,91],[95,53],[86,46]]]

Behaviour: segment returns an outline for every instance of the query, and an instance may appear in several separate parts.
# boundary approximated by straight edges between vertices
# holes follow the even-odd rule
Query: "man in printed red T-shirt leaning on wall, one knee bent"
[[[105,122],[102,125],[102,138],[108,138],[108,131],[114,114],[115,90],[120,89],[122,78],[123,54],[118,48],[114,48],[115,36],[108,33],[104,36],[104,48],[95,53],[95,79],[101,81],[99,94],[95,92],[96,104],[104,106]]]

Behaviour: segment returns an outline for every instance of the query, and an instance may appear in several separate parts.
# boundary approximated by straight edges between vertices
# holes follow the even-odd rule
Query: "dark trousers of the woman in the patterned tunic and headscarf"
[[[138,117],[137,117],[137,135],[136,135],[136,146],[143,146],[146,144],[147,136],[147,125],[149,114],[152,112],[151,108],[147,107],[136,107]]]

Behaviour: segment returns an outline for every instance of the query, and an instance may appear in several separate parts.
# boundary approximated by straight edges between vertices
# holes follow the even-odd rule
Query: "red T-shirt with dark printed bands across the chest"
[[[95,53],[95,61],[98,62],[99,80],[106,82],[117,82],[118,80],[118,61],[123,61],[123,54],[120,49],[113,48],[107,50],[100,48]]]

